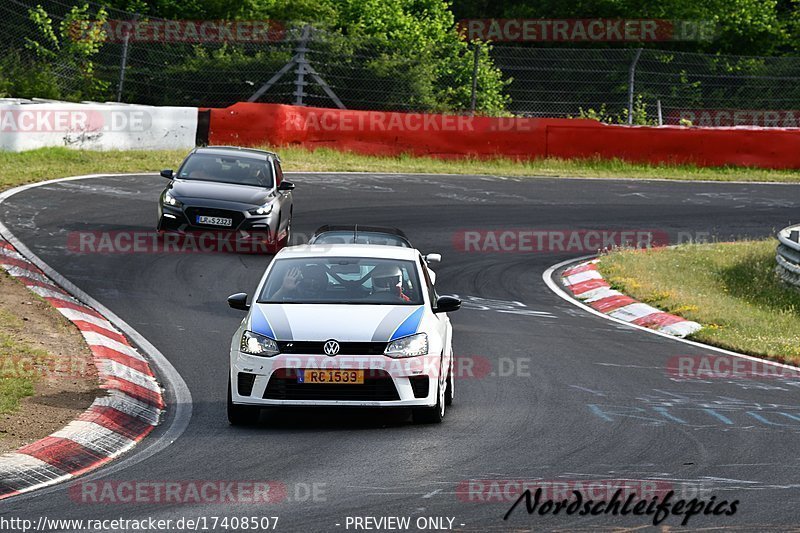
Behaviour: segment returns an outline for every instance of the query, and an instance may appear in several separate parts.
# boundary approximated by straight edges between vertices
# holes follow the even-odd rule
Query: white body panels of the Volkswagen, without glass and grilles
[[[297,304],[254,303],[247,317],[231,339],[231,401],[236,405],[327,405],[349,407],[432,407],[436,405],[438,387],[445,386],[452,367],[452,327],[446,313],[434,313],[430,293],[425,290],[422,269],[427,269],[420,253],[412,248],[380,245],[307,245],[285,248],[267,268],[256,289],[260,294],[274,261],[283,257],[369,257],[413,261],[422,284],[422,305],[364,304]],[[430,270],[428,270],[430,277]],[[401,327],[402,326],[402,327]],[[259,331],[262,330],[262,331]],[[428,355],[395,359],[385,355],[286,354],[274,357],[254,356],[239,350],[245,331],[266,334],[279,342],[386,342],[407,334],[426,333]],[[271,335],[270,335],[271,333]],[[307,400],[264,399],[269,380],[276,371],[285,369],[362,369],[387,372],[397,390],[399,400]],[[240,372],[255,374],[252,392],[239,394]],[[428,394],[415,397],[409,377],[428,376]],[[277,376],[277,375],[276,375]],[[284,378],[288,379],[288,378]],[[327,385],[325,385],[327,386]],[[352,385],[356,387],[357,385]]]

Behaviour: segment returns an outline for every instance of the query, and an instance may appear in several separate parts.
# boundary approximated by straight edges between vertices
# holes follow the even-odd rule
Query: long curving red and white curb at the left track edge
[[[0,266],[78,327],[107,391],[61,430],[0,455],[3,499],[73,478],[130,450],[158,425],[164,399],[149,363],[125,336],[2,237]]]

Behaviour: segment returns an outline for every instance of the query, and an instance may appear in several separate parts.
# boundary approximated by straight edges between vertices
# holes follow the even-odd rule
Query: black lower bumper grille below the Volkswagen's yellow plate
[[[400,395],[389,374],[384,370],[370,370],[363,385],[340,385],[323,383],[298,383],[296,372],[302,369],[287,369],[275,373],[264,391],[265,400],[347,400],[347,401],[394,401]]]

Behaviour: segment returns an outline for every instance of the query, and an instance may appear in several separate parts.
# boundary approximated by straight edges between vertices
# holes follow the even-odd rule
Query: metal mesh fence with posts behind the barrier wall
[[[47,44],[30,16],[37,4],[57,33],[63,33],[59,24],[74,5],[0,0],[0,93],[4,81],[12,85],[3,77],[12,75],[9,58],[16,58],[18,69],[34,61],[47,89],[25,96],[91,95],[201,107],[250,100],[395,111],[488,109],[632,124],[800,126],[800,58],[500,44],[410,54],[382,40],[307,26],[287,28],[269,42],[108,41],[92,56],[92,77],[100,83],[87,89],[90,82],[79,65],[64,61],[60,52],[48,60],[32,50],[33,42]],[[108,16],[138,17],[115,10]],[[479,57],[487,63],[479,65]],[[55,80],[50,85],[47,76]],[[504,80],[503,102],[487,106],[487,87],[497,77]]]

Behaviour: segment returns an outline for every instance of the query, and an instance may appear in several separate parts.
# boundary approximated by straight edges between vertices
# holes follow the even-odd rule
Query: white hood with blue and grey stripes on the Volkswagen
[[[279,341],[386,342],[417,332],[422,305],[255,304],[250,331]]]

